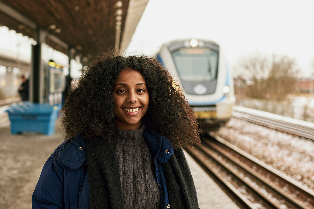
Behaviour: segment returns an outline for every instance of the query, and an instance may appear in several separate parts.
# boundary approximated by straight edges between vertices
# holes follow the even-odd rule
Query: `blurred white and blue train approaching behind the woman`
[[[183,91],[202,125],[224,125],[235,105],[233,78],[219,44],[205,39],[164,43],[155,55]]]

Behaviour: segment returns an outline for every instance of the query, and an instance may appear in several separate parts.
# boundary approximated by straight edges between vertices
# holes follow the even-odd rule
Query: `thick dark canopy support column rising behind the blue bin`
[[[30,102],[43,102],[41,92],[43,81],[41,79],[42,62],[41,62],[41,44],[45,42],[45,31],[36,27],[36,45],[32,45],[32,73],[30,75]]]

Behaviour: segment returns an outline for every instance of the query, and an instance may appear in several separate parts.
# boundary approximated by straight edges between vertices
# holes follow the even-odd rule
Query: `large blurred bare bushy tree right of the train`
[[[295,90],[298,69],[288,56],[255,53],[241,60],[240,68],[252,79],[245,91],[248,97],[282,101]]]

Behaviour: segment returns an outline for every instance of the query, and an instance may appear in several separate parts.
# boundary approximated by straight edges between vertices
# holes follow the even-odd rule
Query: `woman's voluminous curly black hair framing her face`
[[[139,71],[146,81],[149,105],[143,117],[145,126],[168,137],[174,148],[200,143],[198,122],[179,86],[163,65],[147,56],[99,57],[88,67],[63,107],[66,138],[80,132],[89,139],[116,137],[113,86],[126,68]]]

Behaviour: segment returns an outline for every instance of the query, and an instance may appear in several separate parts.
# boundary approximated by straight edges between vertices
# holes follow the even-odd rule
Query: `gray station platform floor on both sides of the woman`
[[[2,112],[0,124],[0,203],[1,208],[31,208],[32,193],[46,159],[64,140],[57,120],[51,136],[35,133],[12,135],[8,116]],[[237,209],[238,206],[187,154],[200,209]]]

